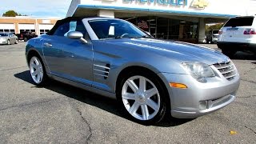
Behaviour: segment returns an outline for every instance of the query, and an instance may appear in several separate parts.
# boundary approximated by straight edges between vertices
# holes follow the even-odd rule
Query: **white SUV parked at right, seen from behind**
[[[219,30],[218,48],[229,57],[237,51],[250,51],[256,54],[255,16],[230,18]]]

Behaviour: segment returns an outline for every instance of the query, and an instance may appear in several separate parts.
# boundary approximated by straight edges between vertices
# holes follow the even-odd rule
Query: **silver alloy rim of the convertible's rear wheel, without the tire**
[[[37,84],[42,82],[43,78],[43,69],[42,63],[37,57],[32,57],[30,59],[30,75],[34,82]]]

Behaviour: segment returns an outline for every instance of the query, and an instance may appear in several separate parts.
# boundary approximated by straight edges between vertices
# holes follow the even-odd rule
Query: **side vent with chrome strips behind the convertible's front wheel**
[[[110,73],[110,64],[106,64],[106,66],[94,64],[95,75],[102,76],[104,79],[106,79],[108,78],[109,73]]]

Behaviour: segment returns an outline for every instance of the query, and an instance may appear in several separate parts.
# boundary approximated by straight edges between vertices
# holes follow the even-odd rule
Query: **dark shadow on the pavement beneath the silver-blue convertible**
[[[22,79],[25,82],[34,84],[32,79],[30,78],[29,70],[23,71],[18,74],[14,74],[14,77]],[[74,86],[70,86],[54,80],[50,80],[47,86],[44,86],[44,87],[33,86],[33,87],[46,88],[48,90],[52,90],[54,92],[57,92],[58,94],[62,94],[62,95],[65,95],[66,97],[73,98],[80,102],[84,102],[90,106],[96,106],[102,110],[106,110],[112,114],[118,115],[119,117],[126,118],[132,121],[129,117],[127,117],[126,114],[122,113],[122,110],[120,110],[121,108],[118,105],[118,102],[116,100],[106,98],[101,95],[94,94],[89,91],[82,90]],[[158,123],[156,126],[162,126],[162,127],[179,126],[186,122],[190,122],[192,120],[193,119],[177,119],[177,118],[170,118],[170,116],[166,116],[166,118],[164,118],[162,122]]]

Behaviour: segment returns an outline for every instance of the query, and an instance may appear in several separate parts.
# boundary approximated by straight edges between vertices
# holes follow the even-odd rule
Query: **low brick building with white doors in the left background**
[[[30,18],[26,16],[1,17],[0,33],[20,34],[22,31],[31,31],[35,34],[45,34],[57,22],[57,18]]]

